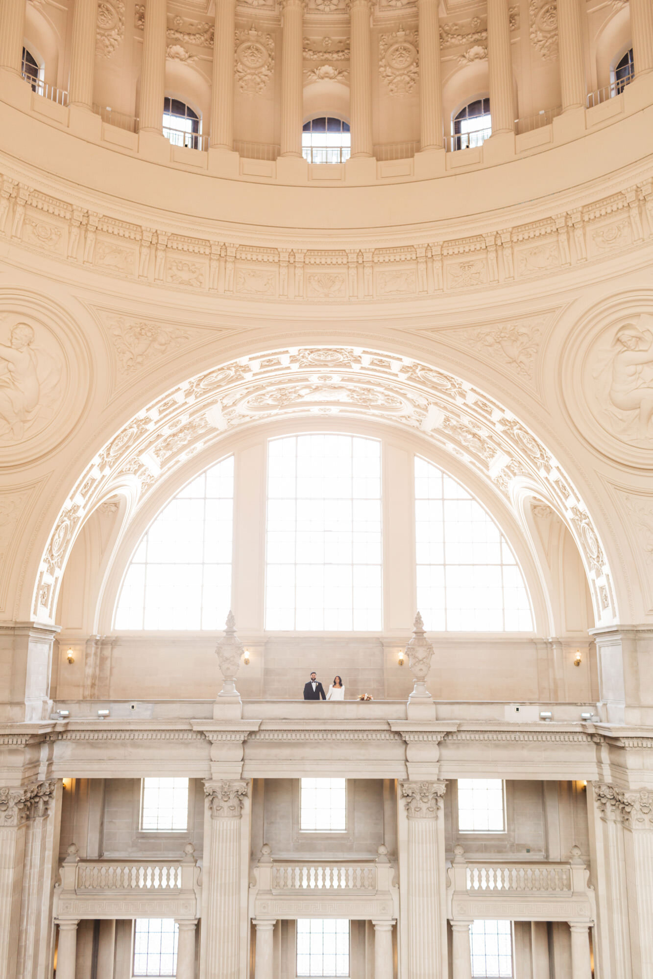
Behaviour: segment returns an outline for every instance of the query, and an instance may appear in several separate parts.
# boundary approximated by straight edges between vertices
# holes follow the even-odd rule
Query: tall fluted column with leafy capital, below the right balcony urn
[[[446,782],[400,782],[408,817],[408,974],[446,975],[444,819]]]

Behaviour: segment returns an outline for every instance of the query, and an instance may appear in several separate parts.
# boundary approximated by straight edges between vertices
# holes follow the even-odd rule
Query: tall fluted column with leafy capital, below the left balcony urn
[[[201,974],[205,979],[240,979],[240,827],[247,782],[207,781]]]

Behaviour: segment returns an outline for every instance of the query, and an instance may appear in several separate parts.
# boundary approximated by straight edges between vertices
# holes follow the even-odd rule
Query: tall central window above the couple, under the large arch
[[[380,443],[268,443],[266,629],[382,628]]]

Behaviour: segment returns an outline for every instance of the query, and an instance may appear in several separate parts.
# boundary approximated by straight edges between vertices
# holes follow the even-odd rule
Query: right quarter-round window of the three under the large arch
[[[476,499],[415,459],[417,605],[434,631],[530,631],[522,572]]]

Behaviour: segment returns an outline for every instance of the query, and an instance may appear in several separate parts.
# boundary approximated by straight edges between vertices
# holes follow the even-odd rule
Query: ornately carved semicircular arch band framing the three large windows
[[[243,356],[156,398],[88,463],[41,558],[32,614],[53,621],[59,584],[84,521],[130,479],[140,502],[162,475],[226,433],[278,418],[383,420],[418,432],[511,503],[527,480],[565,520],[582,556],[597,623],[617,618],[604,548],[569,476],[512,412],[474,385],[406,356],[358,347],[295,347]]]

